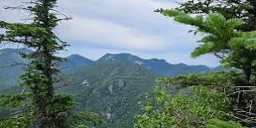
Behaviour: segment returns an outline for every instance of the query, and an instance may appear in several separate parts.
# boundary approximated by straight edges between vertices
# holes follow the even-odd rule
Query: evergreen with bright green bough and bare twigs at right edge
[[[256,122],[252,113],[256,112],[253,107],[255,83],[255,60],[256,60],[256,41],[255,31],[243,31],[238,29],[242,24],[242,19],[227,19],[219,13],[211,13],[204,17],[197,15],[190,16],[187,13],[177,10],[158,10],[168,17],[173,17],[175,21],[195,27],[195,34],[198,32],[205,34],[200,45],[192,52],[192,56],[197,57],[205,54],[214,54],[221,58],[221,62],[228,67],[235,67],[243,71],[232,77],[231,87],[233,92],[228,94],[227,99],[231,99],[232,115],[235,120],[239,120],[244,125],[254,126]],[[223,87],[229,85],[222,83]]]

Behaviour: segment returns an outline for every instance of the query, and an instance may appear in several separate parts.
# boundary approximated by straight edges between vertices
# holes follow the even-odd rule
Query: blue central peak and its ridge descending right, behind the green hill
[[[98,61],[125,61],[136,63],[141,67],[147,67],[152,71],[157,72],[163,76],[178,76],[187,75],[196,72],[210,72],[211,68],[206,66],[188,66],[183,63],[180,64],[169,64],[167,61],[159,59],[144,60],[138,56],[131,54],[106,54],[101,57]]]

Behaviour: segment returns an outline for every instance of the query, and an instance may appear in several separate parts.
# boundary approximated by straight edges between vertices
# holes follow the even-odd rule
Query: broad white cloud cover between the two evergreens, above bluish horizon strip
[[[73,17],[72,21],[64,22],[60,28],[63,39],[72,43],[166,51],[180,47],[177,45],[190,45],[190,41],[195,40],[194,36],[186,36],[187,28],[172,25],[169,19],[153,12],[157,8],[175,6],[167,1],[77,0],[77,3],[61,1],[59,4],[59,9]]]

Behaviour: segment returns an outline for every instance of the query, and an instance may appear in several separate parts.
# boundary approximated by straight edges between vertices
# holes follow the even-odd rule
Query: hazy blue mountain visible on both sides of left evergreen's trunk
[[[29,61],[19,55],[19,52],[29,53],[29,49],[2,49],[0,50],[0,93],[9,93],[7,90],[12,88],[17,90],[19,76],[24,72],[24,64]],[[93,61],[79,55],[67,57],[67,61],[61,63],[62,72],[72,71],[78,67],[88,66]],[[15,88],[15,89],[14,89]]]

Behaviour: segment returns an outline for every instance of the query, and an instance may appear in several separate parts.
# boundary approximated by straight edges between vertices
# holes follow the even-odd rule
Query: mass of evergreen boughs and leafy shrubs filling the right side
[[[169,85],[181,86],[182,88],[196,86],[197,89],[192,95],[190,94],[189,97],[185,98],[183,95],[176,95],[171,98],[166,94],[168,93],[167,89],[158,91],[156,95],[159,97],[156,96],[155,98],[157,104],[147,103],[144,107],[145,114],[136,116],[138,119],[136,127],[177,127],[177,125],[180,127],[205,127],[207,123],[207,127],[210,128],[243,127],[232,121],[224,121],[228,120],[223,118],[223,114],[227,113],[243,125],[255,126],[255,121],[252,120],[255,118],[253,107],[255,105],[255,93],[253,92],[255,92],[254,77],[256,72],[255,5],[256,2],[250,0],[189,0],[180,3],[180,7],[176,9],[157,9],[157,12],[172,17],[181,24],[195,27],[195,30],[189,32],[194,31],[195,35],[198,32],[204,34],[199,40],[200,45],[192,52],[193,57],[213,54],[220,58],[225,66],[234,67],[238,69],[238,72],[224,72],[215,75],[195,74],[159,79],[160,82],[163,81],[163,85],[166,87]],[[206,15],[191,16],[189,13],[206,13]],[[242,77],[239,70],[243,71]],[[200,85],[208,90],[203,91],[204,89]],[[227,87],[232,89],[227,90]],[[224,93],[221,93],[221,90],[224,90]],[[218,93],[214,93],[215,91]],[[227,95],[227,92],[230,94]],[[216,99],[216,97],[218,98]],[[222,99],[222,102],[219,99]],[[166,103],[171,104],[165,105]],[[179,107],[175,108],[177,103],[186,103],[188,107],[184,104],[178,104]],[[184,117],[181,116],[184,113],[187,117],[191,114],[194,117],[191,118],[193,120],[200,120],[194,121],[195,124],[189,123],[189,120],[175,121],[179,119],[175,116],[175,110],[179,109],[183,109],[183,111],[179,112],[178,117]],[[216,117],[207,115],[211,113],[211,110],[223,113],[215,113],[214,116]],[[216,118],[223,120],[216,120]],[[180,124],[180,122],[185,123]]]

